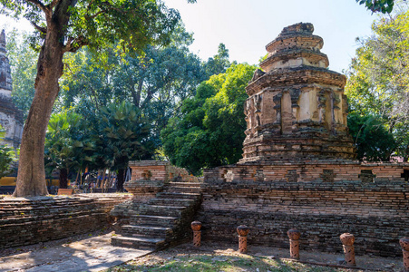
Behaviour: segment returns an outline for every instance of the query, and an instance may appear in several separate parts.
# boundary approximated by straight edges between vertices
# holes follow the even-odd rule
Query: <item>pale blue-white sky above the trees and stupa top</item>
[[[206,60],[226,44],[230,61],[258,63],[266,53],[265,45],[289,24],[312,23],[315,33],[324,38],[323,53],[329,68],[342,72],[355,55],[356,37],[371,34],[378,17],[355,0],[164,0],[180,11],[186,29],[194,33],[193,53]],[[24,21],[0,15],[0,27],[31,29]]]

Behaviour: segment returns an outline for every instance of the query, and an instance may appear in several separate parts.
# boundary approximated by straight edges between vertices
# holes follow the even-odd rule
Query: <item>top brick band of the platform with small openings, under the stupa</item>
[[[259,180],[259,181],[340,181],[368,180],[366,171],[372,171],[375,181],[402,180],[409,163],[360,163],[358,161],[320,160],[297,162],[268,161],[233,164],[204,171],[204,180]],[[362,175],[364,173],[364,175]]]

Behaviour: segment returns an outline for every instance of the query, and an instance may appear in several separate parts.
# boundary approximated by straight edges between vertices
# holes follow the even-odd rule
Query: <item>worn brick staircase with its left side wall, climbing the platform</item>
[[[111,211],[117,236],[112,245],[166,248],[190,238],[200,207],[199,179],[167,161],[131,161],[132,180],[124,188],[133,198]]]

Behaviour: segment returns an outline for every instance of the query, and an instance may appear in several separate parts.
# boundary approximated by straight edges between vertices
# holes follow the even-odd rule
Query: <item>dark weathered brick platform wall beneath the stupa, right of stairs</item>
[[[205,172],[199,216],[203,238],[236,241],[236,228],[245,224],[251,228],[250,244],[288,247],[287,230],[297,228],[301,248],[341,251],[339,235],[350,232],[357,254],[402,255],[398,239],[409,235],[409,184],[400,178],[402,165],[311,165],[304,170],[294,164],[255,165],[247,173],[240,167]],[[367,175],[358,178],[361,169],[369,168],[375,182],[365,182]],[[348,174],[355,178],[339,179]],[[281,178],[268,180],[268,175]],[[315,178],[303,182],[301,176]]]

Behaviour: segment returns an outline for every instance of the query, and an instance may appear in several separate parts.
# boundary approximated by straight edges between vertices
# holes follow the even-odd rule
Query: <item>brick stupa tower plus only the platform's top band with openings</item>
[[[313,24],[293,24],[267,44],[262,70],[246,87],[243,158],[205,170],[205,182],[406,177],[402,165],[369,167],[355,160],[346,124],[346,76],[327,69],[328,58],[320,52],[323,39],[313,32]]]

